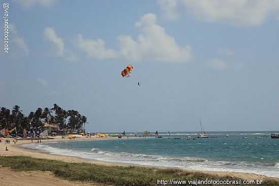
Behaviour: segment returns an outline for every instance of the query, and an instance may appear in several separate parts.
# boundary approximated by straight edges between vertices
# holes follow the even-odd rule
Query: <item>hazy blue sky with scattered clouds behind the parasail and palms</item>
[[[278,0],[0,2],[0,106],[56,103],[90,132],[279,130]]]

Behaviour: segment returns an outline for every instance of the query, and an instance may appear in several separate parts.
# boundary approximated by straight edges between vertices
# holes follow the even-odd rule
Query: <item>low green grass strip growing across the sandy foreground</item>
[[[0,165],[16,171],[51,171],[55,176],[72,181],[99,182],[113,185],[157,185],[157,179],[237,180],[235,177],[212,176],[176,169],[156,169],[134,166],[101,166],[90,163],[66,163],[55,160],[36,159],[23,156],[0,157]],[[275,179],[264,180],[261,185],[276,186]]]

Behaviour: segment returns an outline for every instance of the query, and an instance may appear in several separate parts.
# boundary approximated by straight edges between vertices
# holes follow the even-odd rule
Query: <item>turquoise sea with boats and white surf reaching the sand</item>
[[[170,136],[167,132],[159,132],[163,138],[123,137],[114,140],[32,143],[24,147],[104,162],[249,172],[279,177],[279,139],[272,139],[271,133],[279,132],[208,132],[207,135],[212,138],[195,140],[187,140],[187,136],[196,137],[196,132],[170,132]]]

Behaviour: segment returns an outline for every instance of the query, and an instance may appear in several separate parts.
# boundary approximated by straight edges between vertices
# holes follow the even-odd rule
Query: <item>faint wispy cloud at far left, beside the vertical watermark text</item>
[[[25,55],[28,56],[29,55],[29,48],[28,48],[27,44],[25,43],[25,40],[23,39],[23,37],[18,34],[16,26],[14,24],[10,24],[9,25],[9,30],[12,33],[11,41],[13,43],[15,43],[16,46],[19,49],[23,50]]]

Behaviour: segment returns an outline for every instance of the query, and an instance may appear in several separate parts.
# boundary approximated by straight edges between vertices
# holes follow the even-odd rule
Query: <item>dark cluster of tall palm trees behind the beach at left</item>
[[[12,111],[6,107],[0,110],[0,130],[5,128],[11,130],[16,127],[17,131],[30,130],[31,128],[43,127],[43,122],[56,124],[60,129],[68,128],[74,131],[85,131],[87,118],[77,110],[65,110],[54,104],[52,108],[37,108],[25,116],[18,105]]]

